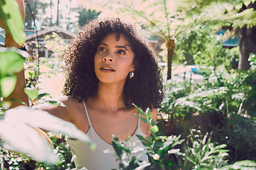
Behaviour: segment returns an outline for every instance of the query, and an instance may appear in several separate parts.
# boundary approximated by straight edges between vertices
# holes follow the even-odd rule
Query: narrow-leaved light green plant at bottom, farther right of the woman
[[[200,130],[191,130],[184,145],[186,161],[181,164],[182,169],[215,169],[227,164],[226,145],[215,146],[210,137],[208,132],[203,136]]]

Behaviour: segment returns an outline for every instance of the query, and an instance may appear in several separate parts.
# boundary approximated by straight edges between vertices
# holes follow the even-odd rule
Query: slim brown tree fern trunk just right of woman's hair
[[[171,38],[166,41],[167,47],[167,79],[171,79],[171,64],[174,57],[175,42]]]

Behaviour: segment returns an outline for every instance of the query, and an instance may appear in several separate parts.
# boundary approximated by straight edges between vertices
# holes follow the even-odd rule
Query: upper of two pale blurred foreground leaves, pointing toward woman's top
[[[73,123],[50,115],[50,113],[46,111],[26,106],[18,106],[6,111],[4,120],[6,120],[6,122],[25,123],[47,131],[60,132],[64,135],[68,135],[68,137],[87,143],[90,145],[91,149],[96,148],[92,140],[90,140],[84,132],[78,130]]]

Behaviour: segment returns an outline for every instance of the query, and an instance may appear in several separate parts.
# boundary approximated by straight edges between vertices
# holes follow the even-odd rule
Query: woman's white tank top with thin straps
[[[84,103],[84,102],[83,102]],[[85,106],[85,103],[84,103]],[[87,120],[89,122],[89,130],[87,131],[87,135],[90,137],[92,141],[95,142],[97,145],[97,148],[95,150],[91,150],[89,145],[85,144],[84,142],[81,142],[80,140],[71,140],[68,139],[68,145],[70,145],[71,152],[74,155],[76,155],[75,159],[75,166],[78,167],[85,167],[88,170],[110,170],[110,169],[117,169],[117,162],[116,158],[109,153],[104,153],[106,149],[110,149],[110,151],[114,152],[114,149],[112,145],[108,144],[102,138],[100,138],[99,135],[95,132],[94,128],[92,127],[92,123],[90,122],[90,117],[87,112],[87,108],[85,106],[85,113],[87,115]],[[134,135],[132,135],[132,143],[137,144],[136,146],[142,146],[142,142],[138,139],[138,137],[135,135],[142,135],[142,137],[146,137],[144,132],[142,132],[141,128],[139,127],[139,120],[137,129],[134,132]],[[127,142],[124,142],[124,145]],[[139,157],[139,160],[148,162],[148,157],[146,155],[146,149],[144,147],[144,150],[141,152],[138,152],[137,157]]]

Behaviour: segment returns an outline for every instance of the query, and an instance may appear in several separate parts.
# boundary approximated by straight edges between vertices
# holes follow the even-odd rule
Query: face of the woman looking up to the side
[[[125,82],[129,72],[134,72],[134,52],[121,34],[107,35],[97,47],[95,54],[95,74],[102,83]]]

